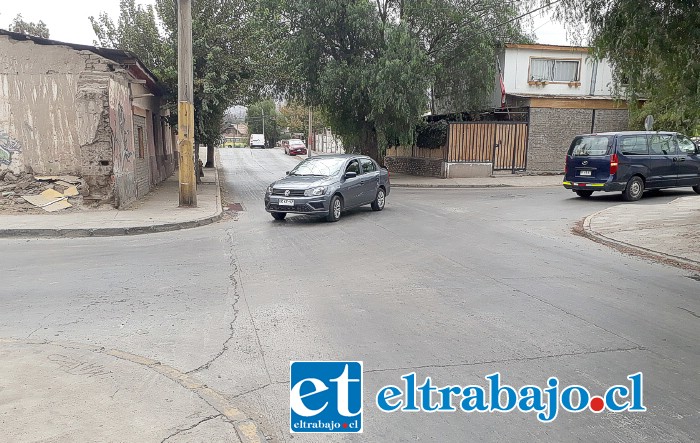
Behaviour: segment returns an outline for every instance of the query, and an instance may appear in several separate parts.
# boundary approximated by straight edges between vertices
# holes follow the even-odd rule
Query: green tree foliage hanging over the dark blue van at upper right
[[[569,29],[588,24],[577,36],[612,63],[633,126],[651,114],[655,129],[700,134],[700,2],[562,0],[555,12]]]

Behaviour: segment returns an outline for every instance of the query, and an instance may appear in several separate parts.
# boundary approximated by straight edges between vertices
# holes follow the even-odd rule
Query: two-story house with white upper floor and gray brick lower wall
[[[628,129],[627,104],[613,96],[613,67],[589,48],[508,44],[498,64],[492,106],[529,110],[528,171],[561,172],[577,134]]]

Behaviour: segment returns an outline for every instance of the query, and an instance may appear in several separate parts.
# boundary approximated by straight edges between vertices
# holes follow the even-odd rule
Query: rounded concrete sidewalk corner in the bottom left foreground
[[[265,441],[194,376],[116,349],[0,338],[0,372],[3,441]]]

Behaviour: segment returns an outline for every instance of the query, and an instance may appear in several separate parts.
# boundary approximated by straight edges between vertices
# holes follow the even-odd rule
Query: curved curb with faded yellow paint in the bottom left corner
[[[201,383],[195,377],[189,375],[186,372],[179,371],[172,366],[168,366],[160,363],[159,361],[152,360],[147,357],[142,357],[140,355],[132,354],[129,352],[124,352],[119,349],[108,349],[101,346],[85,345],[76,342],[58,342],[51,340],[20,340],[14,338],[2,338],[0,337],[0,344],[2,343],[13,343],[20,345],[70,345],[74,348],[85,350],[88,352],[96,352],[103,355],[108,355],[115,359],[125,360],[130,363],[145,366],[148,369],[162,375],[163,377],[179,384],[185,390],[193,393],[202,401],[207,403],[209,406],[214,408],[222,416],[226,417],[226,421],[230,422],[231,425],[236,429],[236,433],[240,440],[244,443],[261,443],[266,441],[265,436],[258,428],[258,425],[221,393],[208,387],[206,384]]]

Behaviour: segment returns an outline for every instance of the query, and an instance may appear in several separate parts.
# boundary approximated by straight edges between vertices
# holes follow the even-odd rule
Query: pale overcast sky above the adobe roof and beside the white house
[[[153,4],[153,0],[137,0],[141,4]],[[70,43],[92,45],[95,34],[88,20],[107,12],[113,19],[119,16],[119,0],[0,0],[0,28],[7,29],[17,14],[25,21],[43,20],[51,38]],[[539,43],[568,44],[561,25],[550,21],[549,16],[533,15],[533,29]]]

